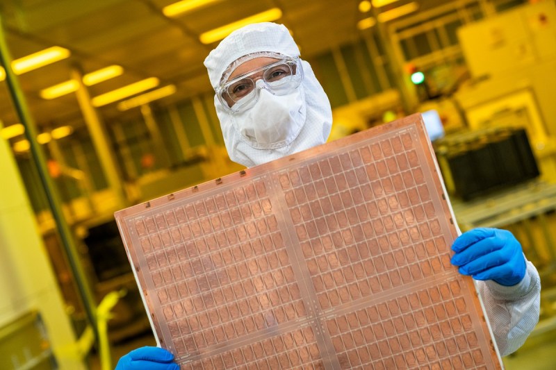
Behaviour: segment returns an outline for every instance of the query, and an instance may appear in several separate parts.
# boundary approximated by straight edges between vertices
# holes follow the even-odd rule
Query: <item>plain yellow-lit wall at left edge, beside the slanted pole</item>
[[[85,369],[13,153],[0,140],[0,326],[38,310],[63,369]]]

